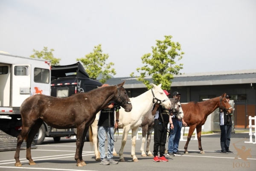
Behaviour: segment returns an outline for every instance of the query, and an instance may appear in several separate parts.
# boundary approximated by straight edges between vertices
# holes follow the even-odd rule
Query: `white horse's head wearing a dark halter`
[[[151,88],[151,92],[153,94],[153,103],[161,104],[166,109],[169,109],[172,105],[169,98],[166,96],[166,94],[161,89],[162,84],[159,84],[158,86],[155,84],[152,84],[153,88]]]

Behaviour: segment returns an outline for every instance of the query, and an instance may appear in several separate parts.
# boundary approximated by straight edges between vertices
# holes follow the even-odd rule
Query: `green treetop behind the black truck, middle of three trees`
[[[109,55],[102,53],[101,44],[94,46],[93,52],[85,55],[85,58],[77,58],[76,61],[81,61],[84,64],[85,71],[92,78],[102,78],[99,80],[104,84],[108,79],[111,78],[111,75],[116,75],[115,69],[111,68],[114,63],[106,63]]]

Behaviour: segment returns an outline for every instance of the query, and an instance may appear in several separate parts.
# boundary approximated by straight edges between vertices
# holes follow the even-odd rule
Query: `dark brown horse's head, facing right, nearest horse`
[[[125,88],[122,87],[124,84],[125,81],[116,85],[117,90],[113,97],[113,100],[116,101],[117,104],[122,106],[125,109],[125,112],[131,112],[132,105]]]

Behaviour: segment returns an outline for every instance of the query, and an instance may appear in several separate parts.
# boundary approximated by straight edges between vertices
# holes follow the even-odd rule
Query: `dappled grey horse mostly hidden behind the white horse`
[[[177,107],[178,105],[178,107]],[[153,107],[151,107],[152,110]],[[184,117],[184,113],[182,110],[182,107],[180,105],[180,101],[175,103],[175,108],[179,111],[177,115],[175,115],[178,119],[182,119]],[[151,141],[151,135],[154,130],[154,116],[151,114],[151,110],[149,110],[145,117],[143,118],[141,128],[142,128],[142,142],[140,147],[140,152],[142,157],[146,157],[146,153],[144,151],[145,141],[147,139],[147,146],[146,146],[146,152],[148,153],[148,156],[153,156],[149,149],[150,141]],[[166,152],[167,153],[167,152]]]

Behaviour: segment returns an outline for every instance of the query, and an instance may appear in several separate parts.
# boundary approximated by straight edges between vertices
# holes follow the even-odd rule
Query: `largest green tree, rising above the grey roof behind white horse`
[[[163,90],[170,90],[173,75],[180,74],[179,71],[183,69],[183,64],[176,64],[184,54],[184,52],[180,52],[180,43],[172,42],[171,35],[164,37],[163,41],[157,40],[156,47],[152,46],[152,54],[148,53],[141,57],[142,63],[145,65],[136,69],[140,73],[140,76],[136,76],[137,80],[142,81],[148,89],[151,88],[151,85],[145,79],[146,76],[151,76],[156,85],[162,83]],[[134,72],[131,73],[131,77],[133,76]]]

